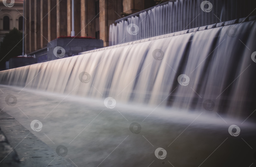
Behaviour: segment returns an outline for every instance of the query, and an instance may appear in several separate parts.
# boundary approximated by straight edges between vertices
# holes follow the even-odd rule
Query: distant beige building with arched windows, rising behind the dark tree
[[[11,1],[6,2],[0,0],[0,41],[14,27],[20,31],[23,28],[23,0],[15,0],[13,5],[9,5]]]

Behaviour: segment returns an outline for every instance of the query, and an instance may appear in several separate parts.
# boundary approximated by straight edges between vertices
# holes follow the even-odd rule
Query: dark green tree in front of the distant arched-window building
[[[6,33],[0,44],[0,60],[1,63],[8,61],[12,57],[22,54],[22,32],[17,28],[13,28]]]

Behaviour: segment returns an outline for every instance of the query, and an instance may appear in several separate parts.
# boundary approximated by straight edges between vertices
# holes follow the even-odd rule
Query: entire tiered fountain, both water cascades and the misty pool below
[[[154,9],[177,11],[176,3],[185,13],[189,4],[198,7],[192,2]],[[0,72],[1,90],[17,99],[1,106],[28,129],[32,120],[42,122],[32,132],[53,149],[64,145],[77,166],[254,163],[255,17],[230,21],[222,12],[225,22],[195,20],[190,29],[189,19],[178,29],[170,22],[143,38],[160,36],[128,32],[132,38],[115,45],[125,39],[124,27],[142,18],[112,26],[123,28],[112,33],[113,46]]]

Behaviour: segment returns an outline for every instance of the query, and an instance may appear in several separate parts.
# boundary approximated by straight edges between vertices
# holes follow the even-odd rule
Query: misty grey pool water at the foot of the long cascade
[[[204,109],[189,112],[120,102],[108,109],[104,99],[66,97],[14,86],[1,85],[0,89],[4,92],[0,94],[2,99],[7,93],[18,99],[15,106],[2,100],[4,111],[52,150],[65,146],[65,158],[77,166],[215,167],[249,166],[255,161],[256,126],[249,119],[219,117]],[[40,131],[31,130],[33,120],[42,122]],[[133,122],[141,128],[135,126],[131,130]],[[237,137],[228,132],[233,124],[241,129]],[[155,150],[159,147],[167,151],[166,158],[156,158]],[[54,164],[53,160],[51,165]]]

